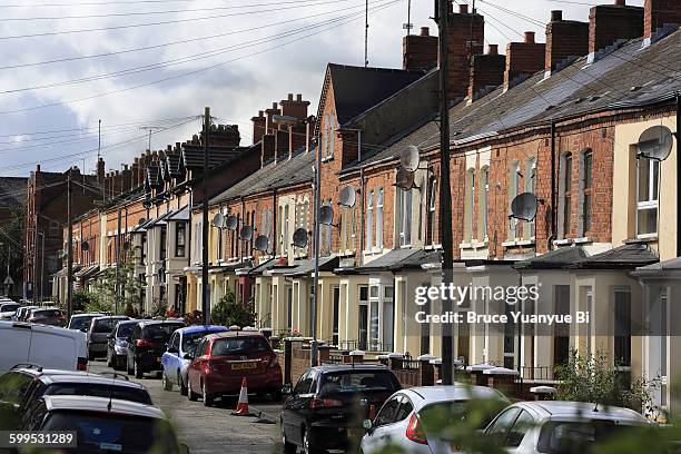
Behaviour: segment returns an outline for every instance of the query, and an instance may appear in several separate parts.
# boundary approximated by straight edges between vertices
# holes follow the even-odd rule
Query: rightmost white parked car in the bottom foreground
[[[586,453],[621,431],[649,424],[629,408],[583,402],[519,402],[500,413],[485,435],[514,454]]]

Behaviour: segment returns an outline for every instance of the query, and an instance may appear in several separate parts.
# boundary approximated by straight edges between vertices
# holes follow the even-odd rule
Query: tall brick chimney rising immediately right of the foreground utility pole
[[[458,12],[452,12],[450,2],[448,85],[450,98],[461,99],[468,93],[471,57],[483,53],[485,20],[477,12],[468,12],[467,4],[460,4]]]

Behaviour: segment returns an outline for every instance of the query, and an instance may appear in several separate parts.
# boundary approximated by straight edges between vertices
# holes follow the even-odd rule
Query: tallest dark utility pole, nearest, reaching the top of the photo
[[[447,90],[448,0],[438,0],[440,28],[440,231],[442,235],[442,283],[454,282],[452,239],[452,189],[450,187],[450,106]],[[452,310],[452,300],[443,298],[443,313]],[[454,336],[452,324],[442,325],[442,384],[451,385],[454,372]]]

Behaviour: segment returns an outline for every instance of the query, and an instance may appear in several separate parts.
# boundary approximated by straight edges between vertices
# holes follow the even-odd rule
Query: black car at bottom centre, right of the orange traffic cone
[[[327,365],[305,372],[284,402],[285,453],[347,450],[364,434],[368,408],[381,407],[402,386],[383,365]]]

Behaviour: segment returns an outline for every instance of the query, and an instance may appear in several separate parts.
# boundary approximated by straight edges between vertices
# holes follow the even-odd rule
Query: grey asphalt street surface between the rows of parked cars
[[[106,362],[89,363],[89,371],[101,373],[112,371]],[[256,423],[255,417],[231,416],[236,398],[226,402],[218,401],[214,407],[205,407],[203,402],[189,402],[181,396],[179,388],[164,391],[161,381],[155,374],[147,374],[142,379],[130,377],[147,387],[154,404],[161,408],[177,428],[180,443],[189,446],[191,454],[207,453],[280,453],[280,431],[278,424]],[[263,418],[276,422],[280,404],[250,398],[251,413],[261,412]]]

